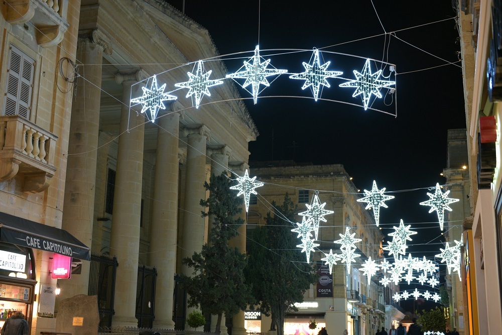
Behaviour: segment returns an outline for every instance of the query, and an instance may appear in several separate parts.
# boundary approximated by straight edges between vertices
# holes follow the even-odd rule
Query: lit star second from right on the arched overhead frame
[[[312,60],[312,57],[314,58]],[[310,58],[311,62],[305,63],[303,62],[303,67],[305,68],[305,72],[302,73],[294,73],[289,76],[292,79],[302,79],[305,80],[305,83],[302,86],[302,89],[305,89],[309,86],[312,86],[312,93],[314,94],[314,99],[317,101],[319,96],[320,86],[330,87],[327,78],[335,78],[339,75],[342,75],[343,72],[340,71],[327,71],[327,68],[330,62],[326,62],[321,65],[319,61],[319,50],[314,48],[314,53]]]

